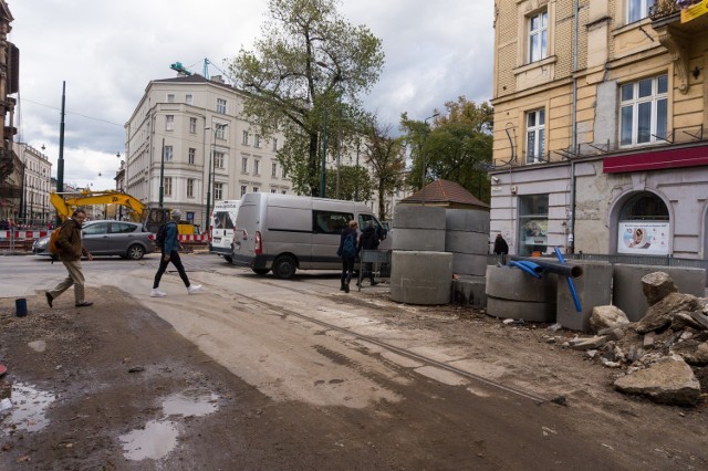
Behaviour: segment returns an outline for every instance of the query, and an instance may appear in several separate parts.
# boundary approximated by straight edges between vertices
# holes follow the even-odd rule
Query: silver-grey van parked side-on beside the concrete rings
[[[379,238],[385,231],[366,205],[335,199],[254,192],[241,198],[233,241],[235,264],[258,274],[273,271],[290,279],[295,270],[342,270],[336,250],[342,230],[356,218],[360,228],[373,220]],[[383,241],[379,249],[389,248]]]

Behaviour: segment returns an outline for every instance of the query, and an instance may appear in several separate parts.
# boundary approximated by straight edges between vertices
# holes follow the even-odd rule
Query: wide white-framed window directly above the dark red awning
[[[659,75],[620,88],[620,145],[634,146],[666,139],[668,76]]]

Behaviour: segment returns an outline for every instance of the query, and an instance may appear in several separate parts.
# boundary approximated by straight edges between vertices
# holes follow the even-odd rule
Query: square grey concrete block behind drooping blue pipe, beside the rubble
[[[568,264],[579,265],[583,275],[573,280],[573,286],[581,304],[577,312],[575,302],[565,276],[558,276],[558,307],[556,322],[564,328],[590,332],[590,316],[594,306],[605,306],[612,303],[613,266],[608,262],[589,262],[569,260]]]

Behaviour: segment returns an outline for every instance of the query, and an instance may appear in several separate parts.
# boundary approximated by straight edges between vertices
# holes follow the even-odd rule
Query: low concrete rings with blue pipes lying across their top
[[[534,278],[523,270],[487,266],[487,314],[499,318],[555,322],[558,279]]]

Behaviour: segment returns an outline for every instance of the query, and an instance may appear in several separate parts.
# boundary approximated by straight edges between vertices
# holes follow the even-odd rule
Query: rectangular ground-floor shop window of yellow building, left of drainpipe
[[[519,197],[519,254],[531,255],[548,249],[549,196]]]

